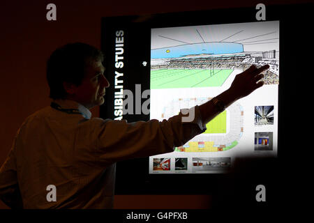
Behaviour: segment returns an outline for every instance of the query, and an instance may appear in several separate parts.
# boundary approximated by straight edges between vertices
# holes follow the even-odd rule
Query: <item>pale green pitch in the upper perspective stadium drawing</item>
[[[221,86],[233,70],[151,70],[151,89]]]

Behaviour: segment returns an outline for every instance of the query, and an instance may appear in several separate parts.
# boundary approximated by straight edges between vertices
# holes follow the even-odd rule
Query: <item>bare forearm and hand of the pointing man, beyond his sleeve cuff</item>
[[[215,97],[215,100],[209,100],[203,105],[200,105],[200,113],[203,123],[208,123],[220,113],[217,109],[217,105],[215,105],[215,101],[222,102],[222,105],[225,105],[225,108],[227,108],[236,100],[244,98],[263,86],[264,83],[258,81],[264,77],[261,72],[267,70],[268,68],[269,65],[265,65],[260,68],[256,68],[254,65],[251,66],[248,70],[241,72],[234,78],[234,81],[227,91],[220,93],[220,95]]]

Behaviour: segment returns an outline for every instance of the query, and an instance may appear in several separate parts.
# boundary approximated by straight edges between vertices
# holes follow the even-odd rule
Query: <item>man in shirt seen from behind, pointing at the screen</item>
[[[103,54],[84,43],[50,56],[52,104],[24,121],[0,169],[0,198],[11,208],[112,208],[117,161],[185,144],[225,107],[262,86],[260,72],[268,68],[251,66],[237,75],[230,89],[188,110],[192,118],[184,112],[162,122],[126,123],[91,118],[89,109],[103,105],[110,86],[102,62]]]

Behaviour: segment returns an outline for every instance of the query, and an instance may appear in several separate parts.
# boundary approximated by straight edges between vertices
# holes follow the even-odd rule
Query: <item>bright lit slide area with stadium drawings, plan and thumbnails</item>
[[[237,157],[276,157],[279,21],[151,29],[150,119],[170,118],[227,90],[251,65],[264,86],[227,107],[173,153],[149,157],[149,174],[223,174]]]

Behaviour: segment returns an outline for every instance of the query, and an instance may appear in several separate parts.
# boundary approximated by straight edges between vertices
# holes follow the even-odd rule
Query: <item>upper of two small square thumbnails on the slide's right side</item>
[[[255,106],[255,125],[274,125],[274,106]]]

